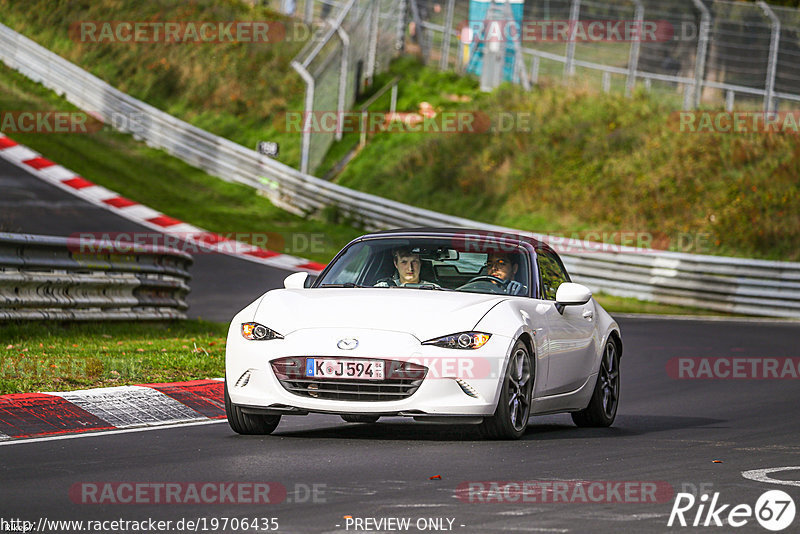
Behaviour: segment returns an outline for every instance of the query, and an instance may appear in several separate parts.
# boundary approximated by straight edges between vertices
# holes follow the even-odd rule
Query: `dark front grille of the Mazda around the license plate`
[[[327,360],[337,358],[326,357]],[[375,358],[341,358],[374,361]],[[393,401],[410,397],[417,391],[428,368],[410,362],[383,360],[383,380],[330,379],[305,376],[306,357],[274,360],[272,370],[286,391],[313,399],[343,401]]]

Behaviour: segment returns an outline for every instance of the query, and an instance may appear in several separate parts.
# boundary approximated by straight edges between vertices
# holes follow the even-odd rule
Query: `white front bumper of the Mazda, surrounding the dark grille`
[[[494,413],[513,340],[492,335],[480,349],[422,345],[414,336],[389,330],[319,328],[284,339],[249,341],[234,324],[228,335],[226,378],[231,401],[256,413],[309,412],[401,416],[487,416]],[[337,348],[342,338],[358,339],[353,350]],[[284,357],[325,357],[409,361],[428,368],[410,396],[358,401],[301,396],[288,391],[270,364]]]

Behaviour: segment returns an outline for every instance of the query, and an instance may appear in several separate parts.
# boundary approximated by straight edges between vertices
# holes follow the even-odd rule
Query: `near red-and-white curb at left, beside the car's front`
[[[0,442],[214,419],[225,419],[221,379],[0,396]]]

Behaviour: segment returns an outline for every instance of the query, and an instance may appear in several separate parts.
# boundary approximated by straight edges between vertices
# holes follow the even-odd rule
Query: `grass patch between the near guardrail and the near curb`
[[[218,378],[227,325],[0,323],[0,395]]]

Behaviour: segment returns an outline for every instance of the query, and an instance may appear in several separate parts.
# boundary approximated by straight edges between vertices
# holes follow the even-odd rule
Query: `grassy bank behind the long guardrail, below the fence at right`
[[[632,98],[544,80],[488,95],[412,65],[401,101],[531,117],[531,131],[380,133],[337,182],[436,211],[578,239],[681,252],[800,260],[800,142],[791,134],[690,134],[680,96]],[[406,81],[412,80],[412,81]],[[443,98],[455,92],[470,99]]]

